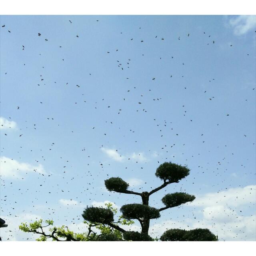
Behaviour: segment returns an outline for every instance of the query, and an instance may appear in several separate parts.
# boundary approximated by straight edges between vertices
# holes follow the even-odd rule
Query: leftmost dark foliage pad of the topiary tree
[[[84,220],[90,222],[110,223],[114,221],[114,214],[110,209],[102,207],[88,207],[82,213]]]

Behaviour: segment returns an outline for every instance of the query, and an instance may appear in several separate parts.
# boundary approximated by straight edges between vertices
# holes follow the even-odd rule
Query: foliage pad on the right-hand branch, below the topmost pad
[[[172,194],[166,194],[162,198],[162,202],[168,207],[175,207],[186,202],[192,202],[196,197],[183,192],[175,192]]]

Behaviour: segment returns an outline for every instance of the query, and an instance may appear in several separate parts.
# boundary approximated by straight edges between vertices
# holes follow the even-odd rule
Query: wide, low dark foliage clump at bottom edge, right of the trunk
[[[192,230],[169,229],[160,237],[161,241],[218,241],[207,228],[196,228]]]

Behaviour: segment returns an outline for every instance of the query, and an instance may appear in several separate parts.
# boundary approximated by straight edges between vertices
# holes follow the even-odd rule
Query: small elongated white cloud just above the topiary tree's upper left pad
[[[101,150],[107,154],[108,157],[112,158],[115,161],[123,162],[124,160],[132,159],[136,162],[144,162],[147,158],[144,156],[144,153],[136,153],[132,154],[120,155],[117,150],[111,148],[101,148]]]

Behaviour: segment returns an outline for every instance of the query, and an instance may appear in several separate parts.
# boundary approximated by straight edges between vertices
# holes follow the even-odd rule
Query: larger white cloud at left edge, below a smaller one
[[[5,156],[1,156],[0,158],[0,169],[1,176],[5,178],[22,178],[22,175],[27,174],[28,172],[37,172],[40,174],[46,173],[42,164],[35,166],[28,163],[18,162]]]

